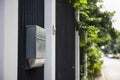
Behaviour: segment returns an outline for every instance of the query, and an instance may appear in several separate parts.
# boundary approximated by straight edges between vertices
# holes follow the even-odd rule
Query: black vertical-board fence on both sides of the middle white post
[[[75,80],[75,17],[66,0],[56,0],[56,80]],[[26,25],[44,27],[44,0],[19,0],[18,80],[44,80],[44,66],[25,69]]]

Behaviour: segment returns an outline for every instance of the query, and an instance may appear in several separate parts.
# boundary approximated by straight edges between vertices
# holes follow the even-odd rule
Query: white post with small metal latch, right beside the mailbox
[[[55,80],[55,0],[45,0],[46,62],[44,80]]]

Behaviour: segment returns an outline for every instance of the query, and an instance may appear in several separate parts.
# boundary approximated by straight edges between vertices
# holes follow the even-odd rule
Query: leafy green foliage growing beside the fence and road
[[[87,0],[87,2],[86,0],[69,0],[69,2],[75,10],[80,11],[80,22],[77,24],[80,32],[80,47],[84,47],[88,53],[88,80],[93,80],[102,69],[101,46],[110,45],[110,42],[112,43],[118,37],[112,27],[112,17],[115,12],[101,12],[102,5],[98,6],[97,3],[102,0]]]

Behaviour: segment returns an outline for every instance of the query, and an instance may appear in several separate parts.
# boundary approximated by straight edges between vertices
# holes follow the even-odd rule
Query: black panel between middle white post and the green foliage
[[[56,80],[75,80],[74,9],[66,0],[56,2]]]

